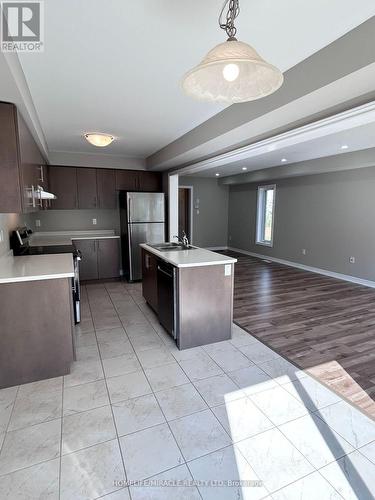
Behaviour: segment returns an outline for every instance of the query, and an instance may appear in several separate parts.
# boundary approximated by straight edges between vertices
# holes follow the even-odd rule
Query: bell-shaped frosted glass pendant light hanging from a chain
[[[226,7],[228,11],[223,19]],[[219,26],[226,31],[228,39],[210,50],[203,61],[183,77],[182,88],[188,95],[232,104],[260,99],[282,85],[281,71],[235,37],[234,21],[239,13],[239,0],[225,0]]]

